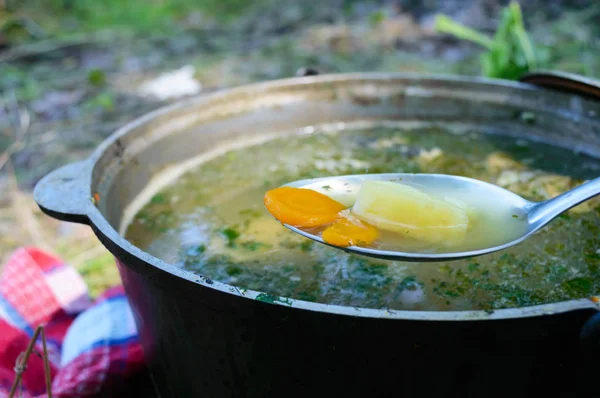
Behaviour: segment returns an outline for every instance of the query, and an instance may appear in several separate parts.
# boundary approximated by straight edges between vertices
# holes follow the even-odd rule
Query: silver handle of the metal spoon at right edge
[[[598,194],[600,194],[600,177],[585,182],[555,198],[534,204],[529,213],[529,222],[542,227],[561,213]]]

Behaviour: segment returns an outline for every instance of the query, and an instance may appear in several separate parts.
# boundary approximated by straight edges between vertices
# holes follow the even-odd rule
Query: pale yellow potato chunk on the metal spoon
[[[352,213],[377,228],[446,247],[463,243],[469,227],[465,208],[389,181],[364,182]]]

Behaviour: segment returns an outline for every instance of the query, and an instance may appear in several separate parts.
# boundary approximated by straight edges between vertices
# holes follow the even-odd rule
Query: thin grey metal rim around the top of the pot
[[[235,93],[254,93],[260,95],[260,93],[267,89],[273,89],[277,87],[286,87],[293,85],[310,85],[314,83],[324,82],[336,82],[336,81],[347,81],[347,80],[389,80],[389,79],[406,79],[406,80],[443,80],[443,81],[455,81],[464,83],[483,83],[487,85],[493,85],[497,87],[508,87],[517,88],[520,90],[529,91],[541,91],[540,88],[527,84],[502,79],[491,79],[484,77],[467,77],[458,75],[447,75],[447,74],[419,74],[419,73],[383,73],[383,72],[357,72],[357,73],[339,73],[339,74],[323,74],[316,76],[306,77],[293,77],[285,79],[277,79],[266,82],[258,82],[252,84],[246,84],[234,88],[227,88],[213,93],[200,94],[198,96],[190,97],[181,101],[177,101],[173,104],[160,107],[152,112],[149,112],[141,117],[134,119],[133,121],[125,124],[124,126],[117,129],[113,134],[107,137],[90,155],[87,159],[83,160],[78,164],[78,169],[81,171],[82,168],[88,173],[88,197],[91,195],[91,174],[96,162],[102,158],[105,151],[110,148],[117,140],[126,134],[134,131],[137,127],[155,119],[159,116],[173,112],[178,109],[183,109],[193,105],[199,105],[203,102],[215,100],[222,97],[227,97]],[[67,166],[68,167],[68,166]],[[60,169],[59,169],[60,170]],[[40,181],[41,183],[42,181]],[[38,186],[41,185],[38,183]],[[36,190],[38,190],[36,186]],[[60,218],[60,212],[52,211],[44,208],[38,200],[36,194],[36,201],[40,204],[40,207],[47,214]],[[594,309],[600,310],[600,304],[596,303],[597,300],[592,298],[581,298],[575,300],[568,300],[556,303],[548,303],[537,306],[521,307],[521,308],[506,308],[494,311],[485,310],[466,310],[466,311],[409,311],[409,310],[390,310],[390,309],[373,309],[364,307],[348,307],[341,305],[332,305],[324,303],[316,303],[305,300],[299,300],[288,297],[278,297],[271,294],[267,294],[260,291],[241,289],[239,287],[228,285],[219,281],[213,281],[209,278],[205,278],[198,274],[194,274],[191,271],[179,268],[171,263],[165,262],[153,255],[143,251],[130,243],[125,237],[121,236],[119,232],[104,218],[100,210],[93,204],[92,200],[87,202],[85,212],[82,214],[82,218],[79,222],[90,224],[96,235],[105,244],[105,246],[112,252],[117,258],[123,257],[134,257],[138,261],[144,262],[150,265],[154,269],[166,272],[173,276],[182,278],[190,283],[199,284],[205,288],[214,289],[223,293],[240,296],[244,299],[251,299],[261,301],[267,304],[274,304],[283,307],[296,308],[301,310],[309,310],[315,312],[365,317],[365,318],[382,318],[382,319],[398,319],[398,320],[437,320],[437,321],[474,321],[474,320],[494,320],[494,319],[511,319],[511,318],[526,318],[534,316],[552,315],[574,310],[583,309]],[[64,219],[64,218],[63,218]],[[112,244],[107,245],[105,241]],[[109,247],[110,246],[110,247]],[[127,263],[127,261],[124,261]],[[156,277],[156,276],[154,276]],[[153,278],[154,278],[153,277]],[[158,276],[160,277],[160,276]]]

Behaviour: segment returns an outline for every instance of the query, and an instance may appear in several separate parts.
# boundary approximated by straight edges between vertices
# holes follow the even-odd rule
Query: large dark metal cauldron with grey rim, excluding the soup
[[[479,78],[323,75],[153,112],[46,176],[35,199],[52,217],[89,224],[116,257],[159,396],[600,396],[599,308],[589,298],[493,313],[267,303],[118,233],[124,209],[170,165],[257,132],[383,120],[476,125],[600,156],[600,103],[583,95]]]

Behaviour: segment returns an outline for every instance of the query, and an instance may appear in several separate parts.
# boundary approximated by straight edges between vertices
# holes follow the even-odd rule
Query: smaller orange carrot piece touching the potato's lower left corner
[[[379,231],[366,222],[340,218],[327,227],[321,236],[325,242],[334,246],[368,246],[377,239]]]

